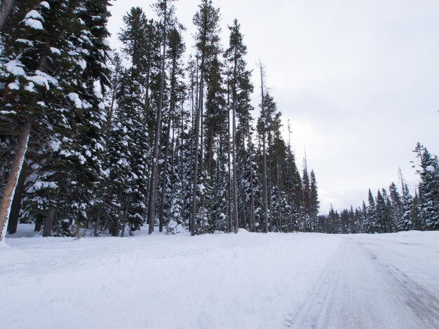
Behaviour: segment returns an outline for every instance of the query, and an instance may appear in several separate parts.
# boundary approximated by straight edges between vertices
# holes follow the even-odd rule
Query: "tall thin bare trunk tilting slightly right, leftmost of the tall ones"
[[[161,79],[160,79],[160,90],[159,90],[159,100],[157,109],[157,119],[156,119],[156,137],[154,139],[154,151],[152,154],[152,168],[151,168],[151,185],[149,186],[149,204],[148,204],[148,223],[149,223],[149,234],[154,232],[154,217],[156,216],[156,190],[157,190],[157,165],[158,165],[158,147],[160,144],[160,133],[161,133],[161,110],[163,109],[163,91],[165,89],[165,63],[166,63],[166,1],[165,1],[165,11],[163,18],[163,59],[161,62]]]

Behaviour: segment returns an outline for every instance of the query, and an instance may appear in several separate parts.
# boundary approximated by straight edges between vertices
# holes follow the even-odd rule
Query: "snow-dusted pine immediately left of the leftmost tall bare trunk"
[[[109,133],[109,183],[108,203],[111,205],[105,216],[107,228],[112,235],[124,235],[126,228],[130,234],[139,230],[146,219],[147,188],[149,176],[149,126],[144,99],[149,98],[144,87],[148,78],[149,26],[142,9],[131,8],[123,18],[119,38],[123,42],[124,54],[133,64],[121,74],[116,90],[116,108],[112,109]],[[137,38],[137,39],[136,39]],[[155,40],[155,39],[154,39]],[[116,66],[117,69],[117,66]],[[147,71],[149,74],[149,71]],[[116,79],[118,74],[116,73]]]

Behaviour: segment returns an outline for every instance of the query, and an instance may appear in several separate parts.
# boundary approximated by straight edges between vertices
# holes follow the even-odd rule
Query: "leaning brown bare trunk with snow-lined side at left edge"
[[[18,178],[22,171],[23,162],[25,162],[25,155],[27,151],[27,144],[29,143],[30,130],[32,123],[28,122],[23,127],[20,136],[18,137],[17,153],[12,164],[11,172],[8,176],[8,181],[1,198],[0,203],[0,244],[4,242],[6,237],[6,228],[8,228],[8,219],[11,214],[11,205],[17,188]]]

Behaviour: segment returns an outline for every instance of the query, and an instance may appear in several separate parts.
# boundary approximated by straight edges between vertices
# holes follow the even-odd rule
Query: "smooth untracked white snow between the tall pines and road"
[[[4,328],[241,329],[281,328],[340,238],[240,232],[6,241]]]

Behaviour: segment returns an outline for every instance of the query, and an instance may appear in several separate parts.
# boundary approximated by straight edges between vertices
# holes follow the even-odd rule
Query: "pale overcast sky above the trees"
[[[113,1],[112,46],[122,16],[153,1]],[[192,17],[199,0],[175,3],[193,51]],[[417,184],[410,161],[420,141],[439,154],[438,0],[213,0],[227,25],[241,23],[247,62],[266,66],[267,85],[292,126],[302,168],[304,149],[316,172],[321,213],[367,201],[398,180]],[[253,77],[255,90],[260,85]],[[259,93],[255,92],[255,106]],[[256,109],[255,116],[259,114]],[[398,185],[399,186],[399,185]]]

